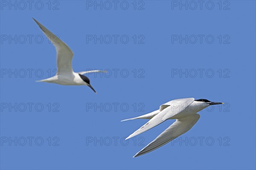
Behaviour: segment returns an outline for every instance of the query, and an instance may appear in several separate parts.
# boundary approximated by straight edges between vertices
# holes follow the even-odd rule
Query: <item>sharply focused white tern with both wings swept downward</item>
[[[160,123],[166,121],[167,119],[176,119],[176,121],[169,126],[163,133],[157,136],[151,143],[144,147],[140,152],[136,153],[134,157],[141,156],[145,153],[151,152],[158,147],[172,141],[178,136],[186,133],[200,118],[197,113],[209,105],[219,105],[224,104],[221,102],[210,102],[207,99],[185,98],[185,99],[175,99],[160,105],[159,110],[153,111],[151,113],[145,114],[143,116],[131,118],[131,119],[150,119],[145,125],[140,127],[126,139],[136,136],[146,130],[159,125]],[[131,120],[126,119],[126,120]],[[122,120],[122,121],[126,121]],[[121,122],[122,122],[121,121]]]

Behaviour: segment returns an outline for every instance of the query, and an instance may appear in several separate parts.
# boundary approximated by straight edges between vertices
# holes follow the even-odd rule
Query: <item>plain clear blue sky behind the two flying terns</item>
[[[98,5],[97,5],[98,4]],[[0,1],[0,168],[255,169],[256,3],[241,1]],[[54,75],[55,48],[34,17],[73,50],[85,86]],[[173,142],[132,158],[173,121],[124,139],[172,99],[201,111]]]

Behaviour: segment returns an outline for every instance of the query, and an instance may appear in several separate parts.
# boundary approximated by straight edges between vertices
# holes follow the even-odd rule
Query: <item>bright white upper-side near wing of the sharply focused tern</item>
[[[146,130],[151,129],[152,127],[155,127],[156,125],[166,121],[167,119],[171,118],[172,116],[175,116],[177,113],[180,113],[186,107],[188,107],[192,102],[194,102],[194,100],[195,100],[194,98],[172,100],[171,102],[169,102],[169,107],[163,109],[163,111],[161,111],[156,116],[154,116],[152,119],[150,119],[145,125],[140,127],[140,129],[136,130],[134,133],[132,133],[126,139],[129,139],[133,136],[143,133]]]

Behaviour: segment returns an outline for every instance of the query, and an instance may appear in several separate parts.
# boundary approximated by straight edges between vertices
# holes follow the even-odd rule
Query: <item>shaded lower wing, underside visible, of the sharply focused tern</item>
[[[198,113],[195,113],[195,115],[188,116],[183,119],[177,119],[176,122],[174,122],[165,131],[163,131],[163,133],[157,136],[154,141],[152,141],[146,147],[140,150],[140,152],[136,153],[134,157],[151,152],[152,150],[155,150],[158,147],[161,147],[164,144],[172,141],[183,133],[186,133],[189,129],[191,129],[192,126],[195,125],[199,118],[200,115]]]

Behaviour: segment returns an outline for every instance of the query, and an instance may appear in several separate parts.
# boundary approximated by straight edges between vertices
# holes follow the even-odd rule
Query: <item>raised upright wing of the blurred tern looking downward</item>
[[[33,20],[35,19],[33,18]],[[38,24],[46,37],[52,42],[52,44],[56,48],[58,74],[72,73],[73,52],[71,51],[71,49],[67,46],[67,44],[65,44],[58,37],[52,34],[52,32],[45,28],[41,23],[39,23],[37,20],[35,20],[35,22]]]

